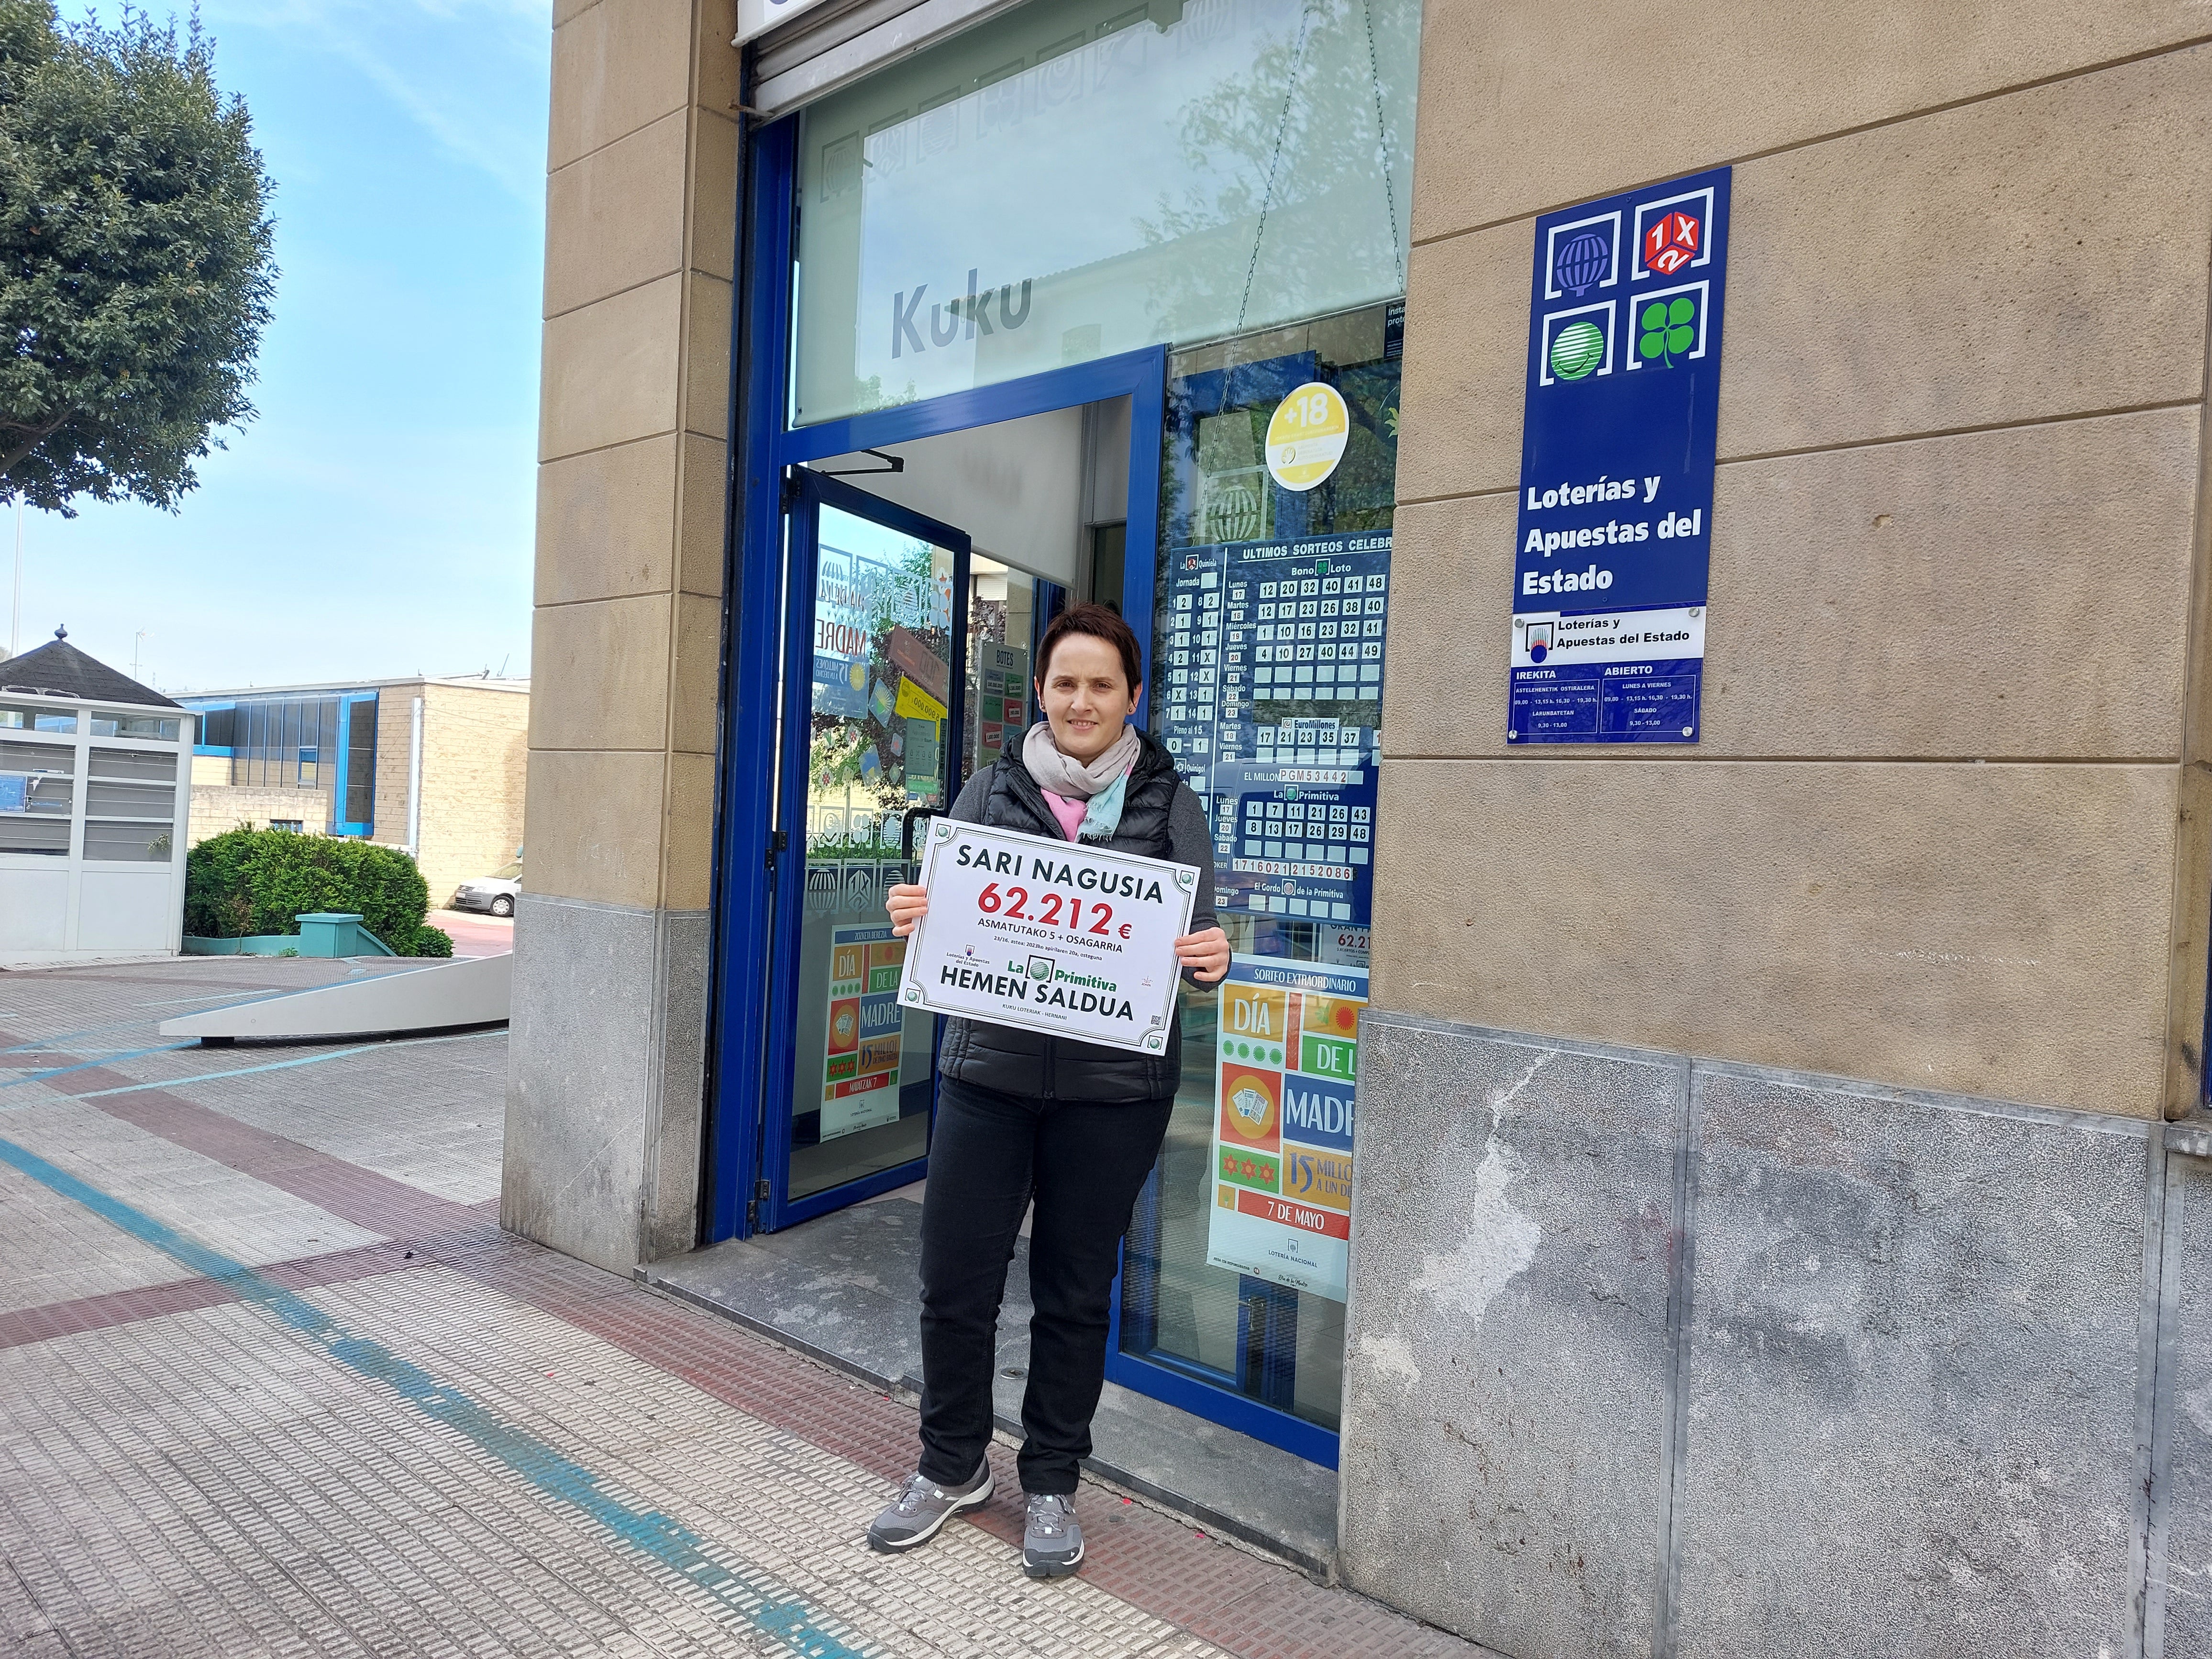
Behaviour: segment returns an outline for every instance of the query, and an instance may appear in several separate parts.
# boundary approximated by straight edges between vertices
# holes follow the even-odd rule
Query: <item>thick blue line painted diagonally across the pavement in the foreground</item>
[[[513,1469],[538,1491],[560,1504],[597,1522],[617,1540],[646,1555],[670,1573],[688,1579],[712,1597],[719,1606],[741,1615],[763,1635],[779,1639],[803,1659],[865,1659],[865,1648],[854,1648],[830,1630],[821,1628],[816,1615],[796,1595],[779,1586],[765,1573],[750,1566],[721,1562],[712,1544],[699,1537],[675,1517],[659,1511],[641,1511],[619,1498],[599,1491],[599,1475],[584,1464],[555,1451],[522,1429],[504,1422],[498,1413],[471,1400],[465,1391],[438,1383],[429,1371],[400,1358],[383,1343],[354,1336],[330,1314],[270,1279],[263,1279],[241,1261],[232,1261],[219,1250],[186,1239],[175,1228],[155,1221],[122,1199],[80,1181],[38,1152],[0,1139],[0,1164],[29,1175],[40,1186],[75,1199],[108,1225],[128,1232],[133,1239],[153,1245],[166,1256],[184,1263],[204,1279],[226,1285],[239,1301],[274,1314],[301,1336],[319,1343],[334,1360],[356,1376],[380,1383],[416,1407],[434,1422],[442,1422],[480,1451]]]

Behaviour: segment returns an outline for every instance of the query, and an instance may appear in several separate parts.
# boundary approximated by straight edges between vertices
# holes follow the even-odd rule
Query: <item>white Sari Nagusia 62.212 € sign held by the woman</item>
[[[900,1004],[1166,1053],[1199,872],[931,818]]]

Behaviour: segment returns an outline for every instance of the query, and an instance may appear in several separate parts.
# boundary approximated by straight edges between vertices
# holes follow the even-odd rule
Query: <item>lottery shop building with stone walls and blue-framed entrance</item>
[[[2203,7],[739,11],[553,11],[502,1221],[874,1225],[883,883],[1117,582],[1276,975],[1172,1480],[1511,1659],[2212,1652]]]

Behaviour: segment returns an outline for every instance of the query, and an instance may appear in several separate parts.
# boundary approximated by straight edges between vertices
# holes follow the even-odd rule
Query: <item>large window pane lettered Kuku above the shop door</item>
[[[794,425],[1402,294],[1418,35],[1418,0],[1033,0],[812,104]]]

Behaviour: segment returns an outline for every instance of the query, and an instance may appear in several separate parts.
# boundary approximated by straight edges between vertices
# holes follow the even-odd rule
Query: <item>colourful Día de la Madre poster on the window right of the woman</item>
[[[1212,1267],[1345,1301],[1367,969],[1239,956],[1214,1055]]]

